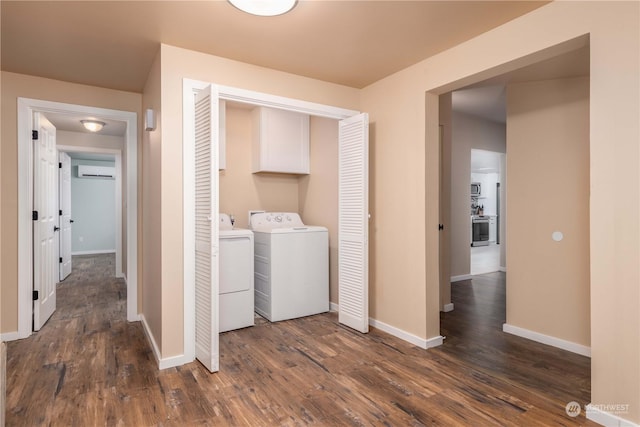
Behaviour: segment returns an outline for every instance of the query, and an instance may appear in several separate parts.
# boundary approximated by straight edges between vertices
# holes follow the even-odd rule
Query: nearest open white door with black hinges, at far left
[[[58,159],[56,128],[40,113],[33,124],[33,329],[39,331],[56,309]]]

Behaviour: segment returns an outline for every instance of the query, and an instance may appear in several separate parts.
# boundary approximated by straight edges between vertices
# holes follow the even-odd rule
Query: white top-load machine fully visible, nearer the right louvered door
[[[292,212],[251,216],[255,310],[272,322],[329,311],[329,233]]]

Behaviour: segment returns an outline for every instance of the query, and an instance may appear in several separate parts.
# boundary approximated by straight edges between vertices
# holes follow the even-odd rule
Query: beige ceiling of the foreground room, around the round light
[[[140,93],[166,43],[362,88],[546,3],[300,0],[265,18],[223,0],[3,0],[1,64]]]

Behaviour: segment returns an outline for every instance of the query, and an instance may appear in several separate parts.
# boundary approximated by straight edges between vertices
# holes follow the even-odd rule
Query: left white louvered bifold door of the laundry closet
[[[218,95],[209,86],[196,95],[195,276],[196,358],[211,372],[218,350]]]

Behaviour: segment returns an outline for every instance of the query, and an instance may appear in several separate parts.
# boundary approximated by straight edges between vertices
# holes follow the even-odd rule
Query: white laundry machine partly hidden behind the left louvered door
[[[253,233],[220,214],[220,332],[254,325]]]

